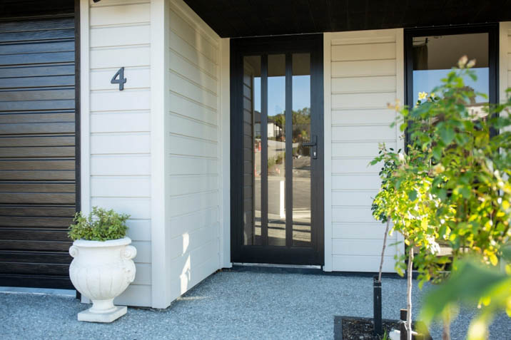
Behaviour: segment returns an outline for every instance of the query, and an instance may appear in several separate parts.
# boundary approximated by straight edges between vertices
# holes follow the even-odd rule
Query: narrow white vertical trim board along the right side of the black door
[[[325,265],[323,270],[325,272],[332,272],[332,89],[331,89],[331,41],[332,34],[323,34],[323,122],[324,122],[324,234],[325,234]]]

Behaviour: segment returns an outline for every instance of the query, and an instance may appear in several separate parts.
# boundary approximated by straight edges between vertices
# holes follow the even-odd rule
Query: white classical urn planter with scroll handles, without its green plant
[[[126,306],[114,306],[135,279],[136,248],[129,237],[108,241],[77,239],[69,248],[74,257],[69,277],[74,287],[92,300],[92,307],[78,314],[79,321],[111,322],[126,314]]]

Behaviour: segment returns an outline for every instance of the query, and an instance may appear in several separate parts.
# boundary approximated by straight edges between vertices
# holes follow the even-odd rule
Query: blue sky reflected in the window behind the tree
[[[439,86],[442,81],[440,79],[445,78],[447,73],[451,70],[420,70],[413,71],[413,105],[417,103],[418,93],[427,92],[430,93],[433,88]],[[490,81],[489,68],[472,68],[477,76],[477,81],[472,81],[472,78],[466,77],[465,86],[470,86],[475,92],[482,92],[488,94],[490,88],[488,82]],[[476,97],[476,103],[485,103],[486,99],[481,96]]]

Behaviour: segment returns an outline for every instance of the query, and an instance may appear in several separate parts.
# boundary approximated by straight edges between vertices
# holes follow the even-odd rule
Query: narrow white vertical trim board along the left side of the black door
[[[220,42],[221,223],[220,266],[231,268],[231,40]]]

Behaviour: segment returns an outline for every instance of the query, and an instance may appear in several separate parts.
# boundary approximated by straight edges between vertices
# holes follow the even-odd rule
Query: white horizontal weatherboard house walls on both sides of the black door
[[[378,143],[404,102],[403,29],[324,34],[325,271],[378,271]],[[81,1],[81,202],[131,215],[136,280],[117,304],[165,308],[230,258],[229,40],[182,0]],[[110,80],[125,67],[123,91]],[[500,24],[500,98],[511,23]],[[398,234],[388,244],[402,240]],[[387,248],[385,272],[394,272]],[[85,301],[85,299],[84,299]]]

